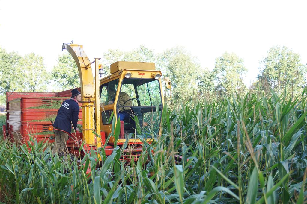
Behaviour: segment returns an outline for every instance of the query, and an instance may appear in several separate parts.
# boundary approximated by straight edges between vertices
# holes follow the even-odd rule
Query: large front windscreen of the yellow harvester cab
[[[124,78],[121,82],[118,112],[125,112],[124,138],[136,134],[151,140],[160,133],[162,92],[160,81],[153,78]]]

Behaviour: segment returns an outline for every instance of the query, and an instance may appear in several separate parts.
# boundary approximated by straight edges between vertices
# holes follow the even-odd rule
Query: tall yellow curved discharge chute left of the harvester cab
[[[63,49],[67,50],[70,53],[70,55],[72,55],[72,58],[75,60],[78,70],[79,70],[81,97],[82,97],[81,103],[82,103],[82,120],[83,120],[83,123],[82,123],[83,140],[85,141],[87,145],[90,145],[90,146],[97,145],[96,142],[98,141],[95,141],[95,135],[93,134],[93,131],[95,131],[95,117],[94,117],[95,104],[94,102],[95,100],[97,100],[98,93],[96,90],[97,86],[94,85],[94,77],[93,77],[92,69],[91,69],[91,64],[93,62],[89,61],[87,55],[83,51],[82,45],[63,43],[62,50]],[[95,83],[97,81],[98,80],[95,79]],[[96,96],[95,96],[95,93],[96,93]],[[99,105],[99,102],[98,102],[98,105]],[[97,106],[97,103],[96,103],[96,106]],[[98,119],[96,119],[96,121],[100,122],[100,120]],[[96,132],[100,134],[100,124],[99,124],[99,127],[97,125],[96,128],[97,128]]]

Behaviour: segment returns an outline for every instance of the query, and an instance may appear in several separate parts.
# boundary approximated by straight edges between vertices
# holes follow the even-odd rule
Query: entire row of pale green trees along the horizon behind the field
[[[48,73],[43,57],[34,53],[20,56],[17,52],[1,55],[1,104],[5,103],[7,91],[59,91],[80,86],[77,66],[68,53],[60,55],[57,64]],[[173,98],[188,100],[192,97],[224,96],[248,90],[277,93],[285,89],[299,93],[306,86],[307,66],[299,54],[288,47],[272,47],[260,60],[257,80],[246,87],[243,78],[247,74],[244,60],[235,53],[223,53],[216,58],[211,71],[202,68],[198,60],[183,47],[173,47],[162,53],[140,46],[131,51],[108,50],[101,63],[104,74],[110,73],[110,64],[116,61],[156,62],[164,76],[170,77]]]

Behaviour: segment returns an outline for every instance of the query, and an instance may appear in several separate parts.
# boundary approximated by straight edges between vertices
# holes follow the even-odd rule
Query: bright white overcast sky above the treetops
[[[108,49],[184,46],[210,70],[223,52],[244,59],[249,84],[259,60],[285,45],[307,62],[307,1],[0,1],[0,45],[56,64],[64,42],[92,61]]]

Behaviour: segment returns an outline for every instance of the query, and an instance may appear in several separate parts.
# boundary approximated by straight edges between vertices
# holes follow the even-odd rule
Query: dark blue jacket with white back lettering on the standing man
[[[80,107],[76,101],[72,99],[64,100],[62,106],[58,110],[53,126],[70,133],[73,125],[76,130],[79,111]],[[72,123],[70,123],[70,121],[72,121]]]

